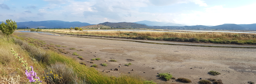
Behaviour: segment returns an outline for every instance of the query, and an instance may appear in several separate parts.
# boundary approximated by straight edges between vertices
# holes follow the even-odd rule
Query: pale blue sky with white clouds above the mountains
[[[0,0],[0,21],[256,23],[256,0]]]

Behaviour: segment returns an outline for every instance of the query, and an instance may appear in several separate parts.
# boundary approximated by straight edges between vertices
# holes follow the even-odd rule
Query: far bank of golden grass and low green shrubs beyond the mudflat
[[[223,33],[223,32],[153,32],[153,31],[65,31],[42,30],[44,32],[75,35],[97,36],[109,38],[126,38],[140,40],[174,41],[174,42],[204,42],[220,44],[251,44],[256,45],[255,34]]]

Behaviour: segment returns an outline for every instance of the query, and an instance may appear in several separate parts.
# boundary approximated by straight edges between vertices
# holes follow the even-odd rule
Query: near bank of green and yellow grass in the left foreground
[[[17,39],[19,38],[19,39]],[[12,36],[11,40],[7,41],[6,37],[0,35],[0,68],[1,79],[10,79],[10,74],[17,72],[20,77],[14,77],[20,81],[18,83],[30,83],[24,76],[25,69],[22,64],[17,62],[18,59],[11,54],[11,48],[17,52],[23,60],[26,60],[28,66],[33,66],[37,76],[40,77],[42,83],[49,84],[151,84],[152,82],[145,81],[140,76],[120,75],[119,77],[108,76],[101,74],[95,68],[84,66],[76,60],[65,55],[58,54],[52,50],[44,50],[43,41],[25,38],[28,42],[17,36]],[[33,41],[33,42],[32,42]],[[41,42],[41,45],[36,45],[35,42]],[[7,59],[8,58],[8,59]],[[8,82],[8,81],[6,81]]]

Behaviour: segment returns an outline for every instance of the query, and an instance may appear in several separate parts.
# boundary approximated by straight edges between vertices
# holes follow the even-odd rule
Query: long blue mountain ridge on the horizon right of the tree
[[[18,28],[70,28],[70,27],[82,27],[92,25],[89,23],[81,22],[65,22],[60,20],[47,20],[47,21],[29,21],[29,22],[18,22]]]

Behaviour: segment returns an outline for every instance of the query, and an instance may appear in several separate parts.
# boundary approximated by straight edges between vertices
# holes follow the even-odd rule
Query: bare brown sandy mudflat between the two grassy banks
[[[15,32],[22,33],[22,32]],[[183,45],[162,45],[131,41],[108,40],[99,38],[84,38],[72,36],[53,36],[39,33],[23,33],[26,37],[33,37],[46,41],[47,44],[54,43],[61,46],[68,46],[66,51],[77,52],[85,58],[87,66],[92,66],[92,58],[101,58],[93,64],[99,66],[99,71],[106,74],[118,76],[120,74],[140,75],[147,80],[157,83],[178,83],[177,80],[165,81],[159,79],[157,73],[170,73],[176,79],[179,77],[188,78],[193,84],[198,84],[199,78],[221,79],[224,84],[247,84],[248,81],[256,82],[256,49],[255,48],[215,48],[197,47]],[[111,38],[114,39],[114,38]],[[123,39],[128,40],[128,39]],[[229,46],[229,47],[256,47],[255,45],[233,45],[233,44],[212,44],[212,43],[190,43],[190,42],[167,42],[148,41],[156,43],[206,45],[206,46]],[[70,50],[69,48],[83,49],[84,51]],[[77,57],[72,54],[63,54],[71,58]],[[96,56],[96,57],[95,57]],[[117,62],[110,62],[115,59]],[[106,62],[106,60],[108,60]],[[107,67],[100,66],[100,63],[107,63]],[[125,66],[124,64],[132,63]],[[121,66],[121,67],[118,67]],[[111,69],[118,68],[118,71]],[[134,69],[134,71],[132,71]],[[220,72],[220,75],[207,74],[209,71]]]

